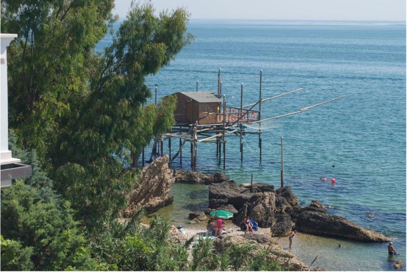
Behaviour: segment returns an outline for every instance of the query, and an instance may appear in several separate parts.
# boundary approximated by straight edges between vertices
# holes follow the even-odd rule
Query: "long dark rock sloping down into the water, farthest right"
[[[328,215],[326,208],[317,201],[302,209],[297,217],[295,229],[314,235],[336,236],[365,242],[383,243],[391,240],[343,217]]]

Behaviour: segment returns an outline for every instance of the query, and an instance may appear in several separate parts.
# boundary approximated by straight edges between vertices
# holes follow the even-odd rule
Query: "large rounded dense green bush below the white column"
[[[84,236],[73,220],[69,202],[44,189],[25,185],[18,180],[10,188],[2,189],[2,235],[14,240],[3,254],[14,252],[24,267],[32,264],[39,270],[96,269],[98,264],[90,257]],[[3,242],[2,242],[3,243]],[[4,251],[5,250],[5,251]],[[13,264],[9,259],[10,265]]]

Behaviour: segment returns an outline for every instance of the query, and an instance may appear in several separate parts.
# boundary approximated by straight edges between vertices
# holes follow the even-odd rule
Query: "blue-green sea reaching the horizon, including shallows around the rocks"
[[[194,91],[196,81],[199,90],[216,92],[219,68],[229,106],[240,105],[241,83],[244,104],[259,99],[260,70],[263,99],[305,87],[264,102],[262,118],[345,96],[261,123],[261,161],[257,135],[244,137],[243,162],[239,138],[228,136],[224,172],[237,183],[250,182],[253,175],[254,182],[279,187],[282,136],[284,185],[292,188],[301,205],[316,199],[332,215],[394,237],[400,255],[389,258],[387,244],[306,234],[296,236],[293,253],[308,264],[317,256],[313,266],[327,270],[394,270],[395,260],[405,263],[405,22],[190,20],[188,32],[195,36],[191,45],[147,79],[153,94],[158,85],[158,99]],[[111,41],[107,35],[98,50]],[[258,125],[247,128],[257,130]],[[178,142],[172,143],[171,153],[178,148]],[[183,163],[176,159],[171,167],[191,170],[187,149]],[[151,146],[147,157],[150,152]],[[223,171],[216,145],[199,143],[197,153],[198,171]],[[328,182],[319,179],[323,176]],[[176,184],[171,193],[174,203],[158,214],[173,224],[188,227],[188,213],[208,206],[206,186]],[[280,239],[285,248],[287,242]]]

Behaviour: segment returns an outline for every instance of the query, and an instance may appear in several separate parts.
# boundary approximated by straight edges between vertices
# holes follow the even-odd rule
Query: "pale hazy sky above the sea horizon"
[[[115,0],[126,17],[131,0]],[[157,11],[184,7],[191,19],[405,21],[405,0],[152,0]]]

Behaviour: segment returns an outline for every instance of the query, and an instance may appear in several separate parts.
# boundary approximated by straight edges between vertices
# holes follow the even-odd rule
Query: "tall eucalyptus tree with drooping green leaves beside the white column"
[[[146,76],[193,39],[185,9],[155,15],[150,2],[132,4],[112,44],[96,53],[113,5],[2,2],[2,32],[19,35],[8,50],[10,127],[25,148],[37,149],[54,189],[89,228],[113,217],[136,182],[124,150],[139,154],[172,125],[174,98],[142,107],[151,96]]]

